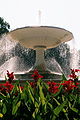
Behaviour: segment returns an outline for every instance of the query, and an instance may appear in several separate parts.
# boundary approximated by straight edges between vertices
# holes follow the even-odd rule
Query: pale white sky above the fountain
[[[80,49],[80,0],[0,0],[0,17],[10,30],[37,25],[64,28],[73,33],[70,45]]]

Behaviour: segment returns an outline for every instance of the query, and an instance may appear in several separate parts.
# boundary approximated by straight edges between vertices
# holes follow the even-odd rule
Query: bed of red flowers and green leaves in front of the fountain
[[[1,120],[80,120],[79,70],[71,69],[67,80],[62,75],[60,83],[44,82],[35,70],[33,82],[19,81],[14,85],[13,72],[7,71],[7,81],[0,84]]]

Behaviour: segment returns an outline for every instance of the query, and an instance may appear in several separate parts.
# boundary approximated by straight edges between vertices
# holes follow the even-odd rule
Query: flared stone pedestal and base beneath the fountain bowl
[[[15,74],[17,79],[32,79],[31,75],[34,70],[38,70],[39,74],[43,76],[43,79],[60,79],[62,73],[53,72],[53,74],[47,68],[46,62],[44,60],[44,51],[46,46],[34,46],[36,50],[36,62],[30,72],[25,72],[24,74]]]

